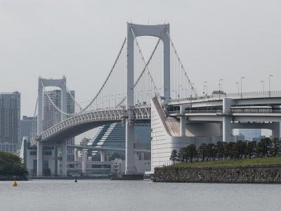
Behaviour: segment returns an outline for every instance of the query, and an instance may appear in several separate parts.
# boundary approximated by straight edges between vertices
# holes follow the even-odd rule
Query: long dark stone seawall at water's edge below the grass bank
[[[231,167],[157,167],[153,181],[281,184],[281,164]]]

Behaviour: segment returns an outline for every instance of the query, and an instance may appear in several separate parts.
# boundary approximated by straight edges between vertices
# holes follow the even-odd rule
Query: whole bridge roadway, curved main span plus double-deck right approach
[[[251,95],[244,93],[242,97],[227,97],[229,99],[229,108],[224,108],[226,105],[223,105],[223,97],[176,99],[170,101],[167,105],[169,110],[173,107],[176,110],[169,111],[167,115],[181,118],[180,116],[183,113],[180,113],[179,108],[183,106],[185,110],[184,116],[187,121],[223,122],[223,117],[228,116],[231,122],[281,122],[281,112],[277,108],[275,110],[255,109],[256,106],[271,106],[273,108],[281,106],[281,91],[272,91],[270,96],[267,92],[261,92],[261,95],[259,93],[253,92],[250,93]],[[246,106],[251,107],[251,109],[242,108]],[[89,129],[100,127],[110,122],[120,122],[126,118],[134,122],[149,122],[150,110],[150,105],[136,106],[129,111],[123,108],[91,110],[67,118],[63,122],[41,132],[36,139],[32,140],[32,145],[36,145],[36,141],[63,142]]]

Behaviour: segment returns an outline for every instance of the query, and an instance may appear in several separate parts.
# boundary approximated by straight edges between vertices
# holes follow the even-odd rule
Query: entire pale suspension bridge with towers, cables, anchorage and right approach
[[[158,38],[148,59],[145,59],[138,43],[138,37],[141,36]],[[246,121],[245,123],[249,124],[255,121],[255,117],[259,117],[256,122],[262,121],[262,124],[259,124],[261,127],[264,126],[264,122],[275,122],[273,126],[275,136],[280,136],[280,133],[277,134],[277,127],[280,127],[281,121],[279,113],[270,115],[270,110],[267,110],[267,113],[261,115],[256,112],[257,110],[249,110],[248,107],[280,106],[281,92],[271,92],[269,95],[241,93],[237,96],[223,97],[197,96],[194,83],[188,77],[188,72],[171,39],[169,24],[127,23],[126,38],[122,41],[105,82],[84,108],[75,101],[70,89],[67,88],[65,77],[63,79],[39,77],[38,86],[37,136],[31,140],[32,146],[37,145],[38,176],[42,174],[44,144],[61,146],[62,172],[66,175],[65,141],[109,122],[123,122],[126,127],[125,174],[135,173],[133,127],[136,122],[151,121],[152,168],[164,165],[169,160],[171,151],[186,143],[208,141],[206,137],[211,137],[212,141],[215,139],[229,141],[230,130],[235,128],[233,126],[235,123]],[[60,108],[55,105],[51,96],[48,96],[48,92],[44,92],[53,107],[60,112],[62,121],[44,130],[43,91],[46,87],[59,87],[62,90]],[[67,93],[75,102],[75,113],[67,113]],[[240,110],[234,110],[235,106],[244,106],[243,108],[246,106],[248,110],[241,110],[242,107]],[[235,113],[236,120],[232,118],[234,111],[240,112]],[[256,115],[250,111],[255,111]],[[243,124],[244,127],[248,127],[247,124]],[[199,138],[203,136],[202,134],[204,139]]]

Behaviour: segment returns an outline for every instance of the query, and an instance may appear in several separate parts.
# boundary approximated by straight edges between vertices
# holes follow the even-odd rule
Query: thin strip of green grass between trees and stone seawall
[[[215,166],[233,166],[233,165],[266,165],[281,164],[281,157],[278,158],[245,158],[241,160],[217,160],[203,162],[179,162],[169,167],[215,167]]]

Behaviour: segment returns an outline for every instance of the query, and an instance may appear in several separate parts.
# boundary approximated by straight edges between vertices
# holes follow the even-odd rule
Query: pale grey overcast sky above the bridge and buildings
[[[37,77],[67,77],[78,101],[102,84],[126,36],[126,21],[171,24],[171,37],[197,92],[281,90],[281,1],[0,0],[0,91],[20,91],[33,115]],[[141,39],[150,51],[155,39]]]

